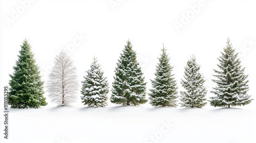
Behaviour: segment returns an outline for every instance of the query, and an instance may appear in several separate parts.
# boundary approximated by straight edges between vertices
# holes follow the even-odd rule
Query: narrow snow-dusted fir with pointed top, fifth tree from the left
[[[154,107],[176,107],[178,98],[177,82],[172,74],[173,66],[170,65],[170,58],[163,47],[162,54],[158,58],[159,63],[156,66],[155,79],[151,80],[152,89],[150,89],[150,104]]]

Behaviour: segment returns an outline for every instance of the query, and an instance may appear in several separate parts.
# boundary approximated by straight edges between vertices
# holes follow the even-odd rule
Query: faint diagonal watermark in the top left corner
[[[24,12],[30,8],[31,3],[34,3],[35,0],[22,0],[19,1],[20,5],[17,6],[16,9],[11,9],[11,15],[10,16],[5,16],[4,20],[6,22],[7,27],[10,27],[10,24],[15,22],[20,15],[24,14]]]

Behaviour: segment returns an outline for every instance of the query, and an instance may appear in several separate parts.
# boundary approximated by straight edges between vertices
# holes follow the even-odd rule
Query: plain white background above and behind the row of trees
[[[255,5],[255,1],[0,1],[0,87],[8,85],[8,74],[13,73],[12,67],[25,38],[32,46],[43,81],[47,81],[54,57],[66,49],[77,67],[79,81],[96,56],[112,87],[116,62],[126,40],[130,39],[147,91],[164,43],[174,66],[178,90],[183,90],[180,80],[184,66],[194,54],[206,79],[206,98],[209,98],[214,96],[209,92],[215,86],[211,82],[212,69],[218,69],[217,58],[229,37],[240,53],[245,74],[249,75],[248,94],[255,99]],[[177,28],[175,23],[183,27]],[[71,48],[79,35],[86,39],[76,41],[78,44]],[[45,97],[48,107],[56,106],[47,93]],[[255,108],[254,102],[246,107]],[[78,98],[74,106],[81,105]],[[150,107],[148,103],[145,106]],[[206,108],[214,109],[209,104]]]

